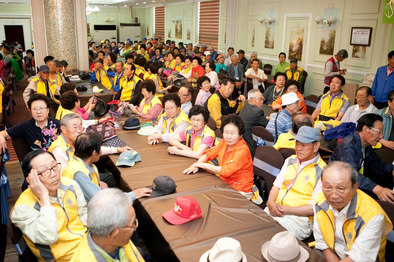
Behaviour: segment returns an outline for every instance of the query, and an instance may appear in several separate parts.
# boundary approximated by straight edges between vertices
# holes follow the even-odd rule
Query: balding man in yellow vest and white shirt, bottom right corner
[[[385,261],[392,222],[374,199],[357,189],[357,171],[331,162],[323,170],[322,187],[314,205],[316,249],[329,262]]]

